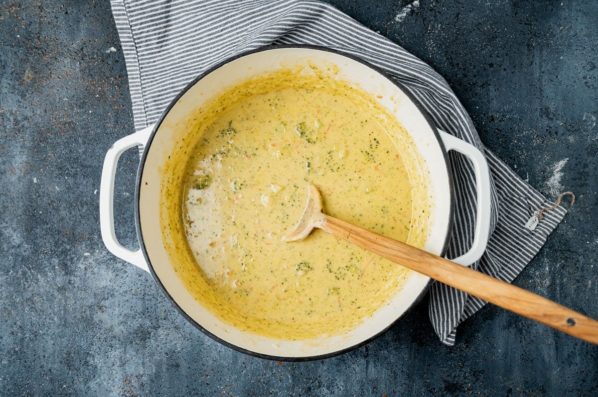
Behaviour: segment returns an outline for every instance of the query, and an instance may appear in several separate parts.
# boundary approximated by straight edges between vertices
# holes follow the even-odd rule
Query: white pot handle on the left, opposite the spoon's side
[[[114,233],[114,177],[120,156],[127,149],[140,144],[145,145],[153,128],[152,125],[117,140],[106,152],[102,167],[102,180],[100,181],[100,230],[106,248],[115,256],[134,264],[140,269],[144,269],[146,272],[149,272],[149,268],[141,250],[131,251],[123,247]]]

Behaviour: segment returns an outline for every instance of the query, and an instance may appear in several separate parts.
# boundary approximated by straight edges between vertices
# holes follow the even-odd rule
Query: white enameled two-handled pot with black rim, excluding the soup
[[[490,181],[483,154],[471,144],[438,131],[413,97],[381,70],[347,54],[310,46],[266,47],[218,64],[182,90],[155,125],[118,140],[108,150],[100,189],[102,238],[115,256],[149,271],[172,304],[200,330],[234,349],[272,359],[319,359],[355,349],[379,336],[401,318],[423,297],[430,284],[428,277],[411,272],[404,288],[396,297],[354,330],[341,336],[317,340],[286,341],[241,331],[223,322],[198,303],[175,274],[163,244],[158,214],[160,183],[163,180],[161,171],[169,154],[176,150],[176,140],[173,137],[181,134],[181,131],[176,130],[178,121],[240,81],[263,76],[285,65],[306,60],[322,66],[324,70],[334,64],[338,68],[335,76],[339,79],[361,88],[372,97],[382,97],[379,103],[394,114],[410,134],[429,171],[427,189],[433,208],[428,220],[426,251],[443,254],[451,229],[453,185],[447,161],[449,150],[460,152],[471,160],[477,182],[474,242],[468,253],[454,261],[469,265],[478,260],[486,248],[489,233]],[[135,192],[140,249],[131,251],[124,248],[115,237],[112,202],[118,158],[125,150],[138,145],[145,146]]]

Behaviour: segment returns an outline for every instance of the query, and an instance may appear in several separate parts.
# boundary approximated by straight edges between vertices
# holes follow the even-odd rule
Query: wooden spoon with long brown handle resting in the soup
[[[469,267],[328,216],[322,213],[318,189],[310,184],[305,211],[297,226],[283,236],[282,241],[304,239],[316,227],[496,306],[598,344],[598,321]]]

